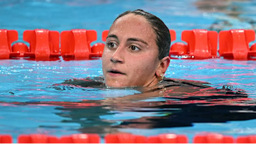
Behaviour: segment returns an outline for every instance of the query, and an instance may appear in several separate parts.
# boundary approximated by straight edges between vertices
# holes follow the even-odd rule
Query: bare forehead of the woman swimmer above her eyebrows
[[[143,38],[144,40],[155,41],[155,33],[151,24],[146,18],[136,14],[126,14],[117,19],[110,28],[109,34],[117,36],[127,36],[135,38]]]

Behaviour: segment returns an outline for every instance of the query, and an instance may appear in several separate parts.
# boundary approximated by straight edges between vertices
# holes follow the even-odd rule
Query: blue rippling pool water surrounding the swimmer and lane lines
[[[255,29],[255,7],[256,1],[12,0],[0,2],[0,28],[18,30],[20,42],[23,42],[22,33],[27,29],[59,32],[95,29],[98,32],[97,42],[101,42],[101,32],[109,29],[118,14],[142,8],[156,14],[170,29],[174,29],[177,33],[175,42],[179,42],[183,30]],[[207,81],[214,88],[232,85],[233,89],[245,90],[248,98],[219,99],[214,103],[200,97],[196,100],[152,97],[142,101],[169,103],[156,107],[114,108],[82,105],[81,101],[139,92],[55,85],[67,79],[102,75],[101,59],[6,59],[0,60],[0,66],[0,133],[11,134],[13,138],[30,133],[63,136],[85,132],[98,133],[103,137],[106,133],[129,132],[145,136],[181,133],[191,140],[196,133],[204,131],[232,136],[256,133],[256,61],[172,59],[165,75],[168,78]],[[42,104],[38,104],[40,102]],[[206,120],[208,115],[216,117],[209,121]]]

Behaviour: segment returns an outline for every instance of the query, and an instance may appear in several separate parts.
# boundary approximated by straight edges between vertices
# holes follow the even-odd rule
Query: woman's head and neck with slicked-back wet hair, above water
[[[158,84],[170,63],[170,42],[161,19],[140,9],[122,13],[111,25],[102,54],[105,85]]]

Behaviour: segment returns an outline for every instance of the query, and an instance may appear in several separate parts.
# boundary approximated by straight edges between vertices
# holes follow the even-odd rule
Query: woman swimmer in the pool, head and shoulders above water
[[[104,78],[67,80],[64,84],[142,92],[140,96],[129,96],[132,99],[159,96],[159,92],[168,96],[230,94],[229,89],[214,89],[201,81],[164,78],[170,63],[170,42],[169,29],[158,17],[141,9],[124,12],[114,20],[106,38],[102,54]]]

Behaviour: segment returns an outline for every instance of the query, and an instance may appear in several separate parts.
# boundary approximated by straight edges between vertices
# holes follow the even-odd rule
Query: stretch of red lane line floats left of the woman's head
[[[97,39],[95,30],[73,29],[60,33],[53,30],[25,30],[23,40],[29,43],[13,42],[18,40],[17,30],[0,29],[0,59],[27,58],[38,60],[93,59],[101,57],[104,44],[91,42]],[[61,43],[60,43],[61,40]],[[61,44],[61,48],[60,48]]]

